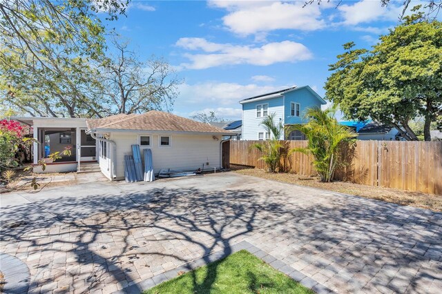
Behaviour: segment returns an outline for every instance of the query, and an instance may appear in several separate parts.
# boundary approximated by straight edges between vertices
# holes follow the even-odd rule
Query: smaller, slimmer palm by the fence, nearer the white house
[[[275,113],[265,117],[265,119],[262,119],[261,121],[261,125],[264,126],[267,134],[269,134],[269,139],[251,146],[251,148],[260,150],[262,153],[260,160],[265,162],[270,173],[275,173],[276,168],[280,166],[280,148],[282,148],[282,143],[279,141],[279,138],[284,130],[281,122],[274,124],[274,118]]]

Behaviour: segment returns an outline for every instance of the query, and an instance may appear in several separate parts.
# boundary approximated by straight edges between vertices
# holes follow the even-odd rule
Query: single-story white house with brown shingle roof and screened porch
[[[152,110],[141,115],[113,115],[102,119],[59,117],[13,117],[32,126],[36,142],[33,160],[36,173],[81,171],[95,164],[110,180],[124,179],[124,155],[131,146],[152,150],[153,170],[196,170],[222,167],[223,136],[232,136],[209,124]],[[70,148],[71,155],[51,161],[50,153]],[[41,170],[39,160],[46,161]]]

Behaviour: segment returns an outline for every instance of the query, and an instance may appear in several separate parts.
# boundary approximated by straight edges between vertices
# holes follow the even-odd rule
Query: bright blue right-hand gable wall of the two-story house
[[[300,104],[300,117],[290,115],[291,102]],[[285,94],[285,124],[305,124],[305,110],[312,106],[321,106],[321,101],[307,88],[301,88]]]

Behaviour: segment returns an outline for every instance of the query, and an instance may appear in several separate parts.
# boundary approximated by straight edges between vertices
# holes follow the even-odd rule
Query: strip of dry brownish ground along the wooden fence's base
[[[253,177],[261,177],[263,179],[271,179],[278,182],[320,188],[339,193],[381,200],[384,202],[442,212],[442,195],[432,195],[421,192],[410,192],[392,188],[367,186],[350,182],[324,183],[319,181],[319,177],[306,177],[303,175],[296,175],[294,173],[266,173],[265,170],[258,168],[242,168],[241,166],[234,166],[232,170],[234,170],[235,173],[240,173],[241,175],[251,175]]]

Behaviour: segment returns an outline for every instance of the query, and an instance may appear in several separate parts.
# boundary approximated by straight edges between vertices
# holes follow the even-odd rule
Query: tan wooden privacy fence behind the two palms
[[[260,151],[251,148],[262,141],[231,141],[230,164],[265,168]],[[291,148],[307,141],[289,141]],[[370,186],[442,194],[441,141],[356,141],[354,150],[345,150],[347,166],[336,171],[335,179]],[[291,171],[316,175],[311,157],[291,155]]]

